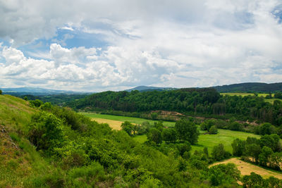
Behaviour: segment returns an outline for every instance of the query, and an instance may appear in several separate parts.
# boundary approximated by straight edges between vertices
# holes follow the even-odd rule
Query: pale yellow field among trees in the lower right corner
[[[234,163],[237,166],[238,170],[240,170],[241,175],[250,175],[250,173],[254,172],[258,175],[262,175],[262,177],[264,177],[264,178],[274,176],[274,177],[277,177],[279,179],[282,179],[281,173],[275,173],[271,170],[266,170],[264,168],[260,168],[257,165],[252,165],[250,163],[246,163],[244,161],[241,161],[238,158],[230,158],[226,161],[221,161],[219,163],[214,163],[212,165],[219,165],[219,164],[226,164],[226,163]]]

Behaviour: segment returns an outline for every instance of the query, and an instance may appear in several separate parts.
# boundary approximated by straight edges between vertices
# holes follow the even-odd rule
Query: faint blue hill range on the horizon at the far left
[[[32,94],[35,96],[49,95],[49,94],[84,94],[85,92],[73,92],[65,90],[44,89],[39,87],[17,87],[17,88],[0,88],[4,94],[11,94],[13,96]]]

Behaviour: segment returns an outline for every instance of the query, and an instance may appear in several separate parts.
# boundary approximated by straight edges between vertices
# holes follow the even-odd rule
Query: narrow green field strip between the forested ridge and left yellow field
[[[117,120],[117,121],[129,121],[130,123],[141,124],[145,121],[148,121],[150,124],[154,125],[155,120],[147,120],[143,118],[133,118],[133,117],[126,117],[120,115],[108,115],[108,114],[100,114],[100,113],[88,113],[88,112],[81,112],[81,114],[90,117],[90,118],[102,118],[108,120]],[[164,121],[164,126],[166,127],[174,127],[175,122]]]

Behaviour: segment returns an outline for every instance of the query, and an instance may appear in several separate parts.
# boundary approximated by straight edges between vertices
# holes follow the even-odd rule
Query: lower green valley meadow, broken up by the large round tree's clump
[[[248,132],[239,132],[239,131],[233,131],[233,130],[221,130],[219,129],[218,134],[200,134],[198,143],[195,146],[192,146],[192,153],[194,153],[195,150],[203,150],[204,146],[207,146],[209,149],[209,153],[212,152],[212,148],[220,143],[222,143],[225,146],[226,151],[229,151],[232,153],[232,142],[234,139],[247,139],[247,137],[256,137],[259,138],[259,135],[248,133]],[[133,137],[135,141],[144,143],[147,140],[146,135],[140,135]]]

